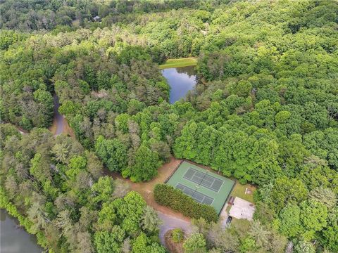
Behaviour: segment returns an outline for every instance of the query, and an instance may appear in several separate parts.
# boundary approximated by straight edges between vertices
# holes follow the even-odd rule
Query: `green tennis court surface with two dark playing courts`
[[[234,181],[189,162],[182,162],[167,184],[182,190],[196,202],[213,206],[219,214],[230,195]]]

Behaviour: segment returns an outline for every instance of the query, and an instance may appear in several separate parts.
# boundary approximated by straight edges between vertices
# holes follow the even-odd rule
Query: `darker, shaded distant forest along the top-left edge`
[[[120,1],[120,0],[3,0],[0,6],[0,28],[31,30],[71,30],[85,27],[99,15],[106,27],[124,20],[126,13],[149,13],[184,6],[194,7],[192,0]],[[128,17],[132,18],[132,17]]]

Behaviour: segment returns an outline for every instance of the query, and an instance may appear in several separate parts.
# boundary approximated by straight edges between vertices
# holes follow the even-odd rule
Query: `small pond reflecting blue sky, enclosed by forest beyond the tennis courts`
[[[170,103],[184,98],[197,83],[194,66],[168,68],[162,70],[162,74],[170,85]]]

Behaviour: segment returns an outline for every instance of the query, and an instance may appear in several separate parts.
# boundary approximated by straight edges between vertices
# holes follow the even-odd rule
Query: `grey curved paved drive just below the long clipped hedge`
[[[192,233],[192,224],[187,221],[177,219],[174,216],[168,214],[163,214],[162,212],[158,212],[158,217],[163,221],[163,224],[160,226],[160,239],[162,245],[165,245],[164,235],[170,229],[182,228],[184,233]]]

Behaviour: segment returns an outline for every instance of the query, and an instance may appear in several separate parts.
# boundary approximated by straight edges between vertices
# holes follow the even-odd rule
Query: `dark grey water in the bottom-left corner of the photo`
[[[0,252],[6,253],[39,253],[44,249],[37,245],[35,235],[30,235],[19,227],[18,220],[1,209],[0,213]]]

